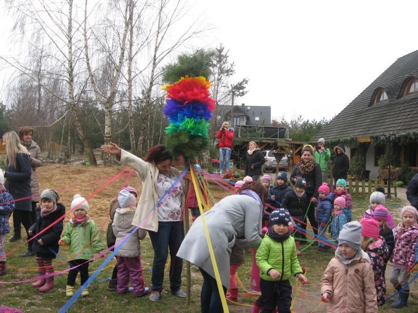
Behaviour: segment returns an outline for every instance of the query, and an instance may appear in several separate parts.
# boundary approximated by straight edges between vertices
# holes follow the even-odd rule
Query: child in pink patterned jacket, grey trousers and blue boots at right
[[[418,242],[418,226],[416,219],[418,212],[416,208],[407,205],[401,210],[401,220],[396,227],[395,248],[392,256],[392,272],[390,282],[399,293],[398,300],[392,304],[394,308],[401,308],[408,305],[409,298],[409,270],[408,267],[415,265],[414,248]]]

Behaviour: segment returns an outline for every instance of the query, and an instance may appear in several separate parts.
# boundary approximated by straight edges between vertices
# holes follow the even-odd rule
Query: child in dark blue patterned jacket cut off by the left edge
[[[4,241],[6,234],[10,233],[9,217],[14,209],[14,201],[11,194],[4,190],[4,175],[0,171],[0,276],[6,275],[6,252]]]

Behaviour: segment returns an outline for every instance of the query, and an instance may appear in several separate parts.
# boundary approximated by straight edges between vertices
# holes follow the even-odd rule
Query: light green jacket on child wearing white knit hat
[[[90,218],[84,225],[77,223],[74,227],[73,220],[70,219],[62,239],[70,247],[69,260],[90,260],[94,252],[99,253],[105,248],[98,227]]]

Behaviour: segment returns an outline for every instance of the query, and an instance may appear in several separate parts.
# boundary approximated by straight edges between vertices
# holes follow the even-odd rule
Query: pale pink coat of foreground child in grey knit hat
[[[373,270],[363,257],[345,265],[335,256],[321,278],[321,294],[325,292],[331,294],[328,313],[377,312]]]

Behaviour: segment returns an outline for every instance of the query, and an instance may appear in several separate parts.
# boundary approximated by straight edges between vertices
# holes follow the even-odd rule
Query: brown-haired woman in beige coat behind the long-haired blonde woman
[[[41,148],[38,144],[32,140],[33,128],[24,126],[19,129],[19,139],[30,154],[30,166],[31,166],[31,177],[30,177],[30,189],[32,192],[32,222],[36,220],[36,202],[41,201],[39,198],[39,182],[36,175],[36,168],[42,166],[44,160],[41,155]]]

